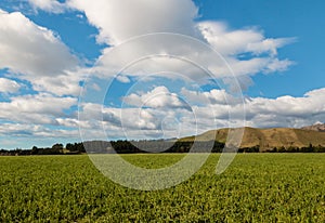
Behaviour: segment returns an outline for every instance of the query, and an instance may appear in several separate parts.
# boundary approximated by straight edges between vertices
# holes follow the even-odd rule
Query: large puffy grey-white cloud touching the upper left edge
[[[8,68],[30,81],[36,90],[60,95],[77,94],[81,79],[76,71],[78,58],[57,35],[34,24],[20,12],[0,11],[0,54],[5,55],[0,61],[0,68]],[[58,89],[57,82],[61,82]]]

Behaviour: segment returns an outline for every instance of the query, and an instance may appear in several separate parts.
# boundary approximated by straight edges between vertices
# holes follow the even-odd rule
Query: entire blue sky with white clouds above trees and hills
[[[325,120],[325,2],[2,0],[0,148]]]

